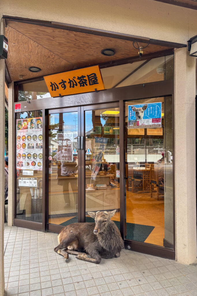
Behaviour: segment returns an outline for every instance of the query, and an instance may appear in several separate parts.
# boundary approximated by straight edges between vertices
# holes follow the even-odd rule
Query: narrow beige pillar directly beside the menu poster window
[[[14,82],[8,85],[8,226],[13,225],[14,213]]]

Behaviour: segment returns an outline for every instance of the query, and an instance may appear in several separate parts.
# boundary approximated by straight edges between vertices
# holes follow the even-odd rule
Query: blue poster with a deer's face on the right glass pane
[[[161,124],[161,102],[128,106],[128,128],[156,128]]]

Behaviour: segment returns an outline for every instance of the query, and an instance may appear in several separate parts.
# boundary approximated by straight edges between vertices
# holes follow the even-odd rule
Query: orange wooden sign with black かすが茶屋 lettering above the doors
[[[52,97],[105,89],[99,66],[44,76]]]

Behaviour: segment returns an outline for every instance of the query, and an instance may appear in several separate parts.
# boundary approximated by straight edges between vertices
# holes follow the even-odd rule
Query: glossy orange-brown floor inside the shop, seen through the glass
[[[49,218],[49,223],[61,224],[76,216]],[[120,212],[116,212],[113,220],[120,221]],[[126,191],[126,222],[154,226],[146,243],[163,246],[164,238],[164,198],[157,200],[156,192],[151,198],[150,192],[132,193]]]

